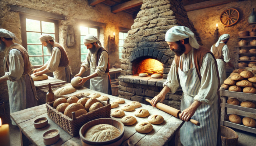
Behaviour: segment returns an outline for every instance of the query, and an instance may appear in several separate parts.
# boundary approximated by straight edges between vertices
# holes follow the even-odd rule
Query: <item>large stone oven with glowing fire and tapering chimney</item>
[[[151,100],[163,89],[175,56],[165,41],[165,33],[179,25],[190,28],[200,44],[199,34],[180,0],[143,0],[141,11],[124,40],[122,76],[118,77],[121,98],[149,104],[145,99]],[[163,69],[163,79],[139,77],[138,73],[146,69]],[[167,94],[163,103],[180,109],[181,95],[179,88],[175,94]]]

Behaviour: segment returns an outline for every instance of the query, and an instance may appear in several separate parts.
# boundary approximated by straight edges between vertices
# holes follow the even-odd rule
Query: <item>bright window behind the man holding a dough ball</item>
[[[85,37],[88,34],[92,34],[93,36],[96,36],[99,39],[99,28],[97,27],[84,27],[80,26],[80,32],[81,32],[81,62],[83,62],[86,58],[86,55],[88,54],[88,50],[83,43],[83,37]]]

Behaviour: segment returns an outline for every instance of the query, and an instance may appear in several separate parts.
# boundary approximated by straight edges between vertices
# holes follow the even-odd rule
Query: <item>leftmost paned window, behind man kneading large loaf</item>
[[[42,34],[50,34],[58,42],[58,21],[22,15],[22,45],[28,51],[33,66],[40,67],[51,57],[46,47],[39,41]]]

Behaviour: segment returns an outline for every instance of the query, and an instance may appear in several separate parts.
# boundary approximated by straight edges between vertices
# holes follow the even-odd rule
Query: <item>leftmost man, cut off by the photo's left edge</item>
[[[4,56],[5,75],[0,78],[0,83],[7,81],[10,113],[36,106],[36,100],[38,100],[34,81],[29,74],[33,66],[28,52],[14,41],[19,42],[12,32],[0,29],[0,51],[6,50]],[[11,123],[16,125],[12,119]]]

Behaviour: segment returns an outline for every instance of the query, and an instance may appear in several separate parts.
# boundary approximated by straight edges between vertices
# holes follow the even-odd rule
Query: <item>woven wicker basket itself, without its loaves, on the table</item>
[[[90,98],[83,93],[73,96],[76,96],[79,99],[83,97]],[[85,123],[95,120],[97,118],[110,118],[111,105],[109,104],[109,99],[107,100],[107,103],[103,101],[99,102],[102,103],[104,106],[89,113],[83,114],[82,116],[79,116],[77,118],[75,118],[75,112],[72,112],[72,118],[65,116],[61,112],[58,112],[56,109],[53,108],[54,101],[46,103],[46,109],[47,114],[51,120],[53,120],[57,125],[59,125],[71,136],[77,136],[79,135],[79,129]]]

